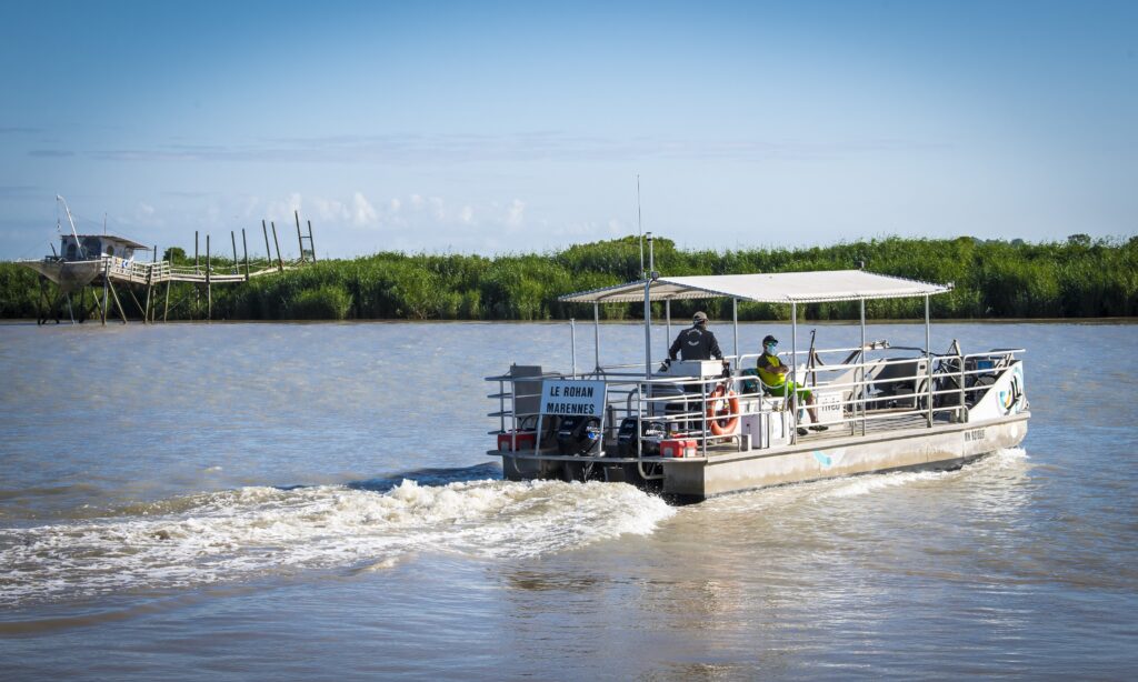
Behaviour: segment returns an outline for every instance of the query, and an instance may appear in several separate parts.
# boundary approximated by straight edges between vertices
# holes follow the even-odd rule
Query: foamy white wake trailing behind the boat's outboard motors
[[[415,552],[531,557],[649,534],[674,514],[630,485],[442,483],[446,471],[419,474],[440,484],[404,477],[242,488],[0,529],[0,607],[311,568],[384,568]]]

